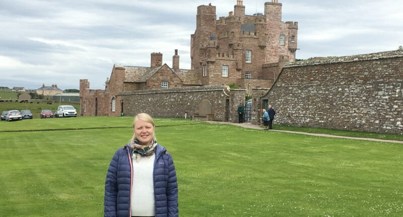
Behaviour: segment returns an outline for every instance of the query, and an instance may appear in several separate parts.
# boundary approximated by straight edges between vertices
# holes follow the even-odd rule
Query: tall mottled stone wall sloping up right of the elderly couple
[[[403,134],[403,51],[288,63],[259,97],[274,123]]]

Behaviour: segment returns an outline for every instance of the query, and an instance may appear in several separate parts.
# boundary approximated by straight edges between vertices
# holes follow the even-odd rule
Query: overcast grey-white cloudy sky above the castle
[[[244,0],[247,15],[264,2]],[[190,69],[190,34],[199,5],[228,16],[236,0],[0,0],[0,86],[37,89],[57,84],[104,89],[113,64],[150,66],[163,53]],[[282,21],[298,22],[297,59],[350,56],[403,45],[403,6],[396,0],[279,0]]]

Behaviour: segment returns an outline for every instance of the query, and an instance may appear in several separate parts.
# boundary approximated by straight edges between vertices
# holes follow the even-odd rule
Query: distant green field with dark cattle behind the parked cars
[[[21,100],[12,102],[0,102],[0,111],[10,111],[10,110],[31,110],[33,114],[33,118],[40,118],[40,113],[44,109],[51,110],[55,112],[57,107],[59,106],[59,102],[52,102],[52,104],[48,104],[47,102],[40,101],[37,103],[36,101],[23,102],[20,103]],[[80,116],[80,103],[77,102],[61,102],[61,105],[73,105],[77,110],[77,116]]]

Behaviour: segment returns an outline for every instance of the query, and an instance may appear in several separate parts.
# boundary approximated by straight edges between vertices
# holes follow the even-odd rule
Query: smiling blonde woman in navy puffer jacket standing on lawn
[[[154,130],[148,114],[135,117],[133,137],[109,165],[104,216],[178,216],[175,166]]]

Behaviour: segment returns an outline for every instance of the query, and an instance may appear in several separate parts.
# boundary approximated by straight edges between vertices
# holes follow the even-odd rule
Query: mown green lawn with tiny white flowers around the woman
[[[0,129],[44,131],[0,132],[0,216],[102,216],[107,167],[131,124],[128,117],[1,122]],[[156,125],[175,161],[181,216],[403,213],[401,144],[180,119]],[[86,129],[62,130],[73,128]]]

